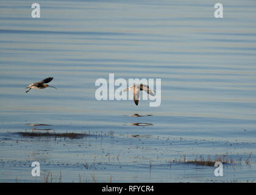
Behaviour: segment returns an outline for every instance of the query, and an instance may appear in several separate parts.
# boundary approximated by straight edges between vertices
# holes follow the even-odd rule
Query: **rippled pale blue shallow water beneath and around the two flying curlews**
[[[30,2],[1,1],[0,182],[45,182],[49,171],[52,182],[60,172],[61,182],[255,182],[256,2],[225,0],[222,19],[215,3],[41,1],[33,19]],[[109,73],[161,79],[160,107],[96,101],[95,81]],[[25,93],[50,76],[58,90]],[[90,136],[18,133],[32,129]],[[184,155],[235,163],[215,177],[173,162]]]

